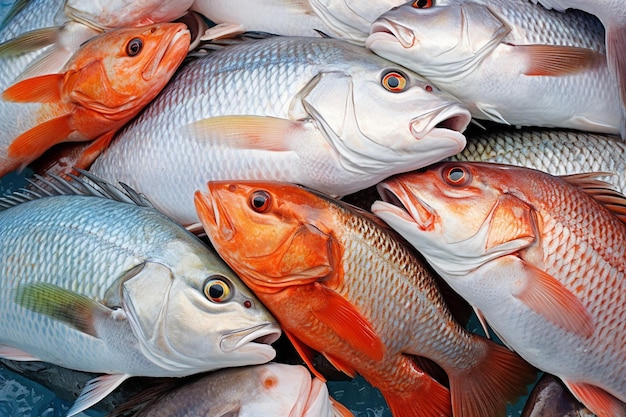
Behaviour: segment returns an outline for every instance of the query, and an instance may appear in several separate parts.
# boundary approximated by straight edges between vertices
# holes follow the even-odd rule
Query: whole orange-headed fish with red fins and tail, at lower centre
[[[209,181],[195,204],[219,255],[310,351],[357,373],[394,417],[501,416],[534,368],[470,333],[408,244],[356,207],[289,183]],[[450,389],[414,360],[447,373]]]

